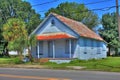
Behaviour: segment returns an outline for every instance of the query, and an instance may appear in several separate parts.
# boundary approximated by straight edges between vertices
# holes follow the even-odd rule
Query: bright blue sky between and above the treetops
[[[36,4],[41,4],[41,3],[45,3],[45,2],[50,2],[50,1],[54,1],[54,0],[25,0],[27,2],[30,2],[31,5],[36,5]],[[101,2],[101,3],[96,3],[96,4],[89,4],[86,5],[90,10],[91,9],[100,9],[100,8],[105,8],[105,7],[110,7],[110,6],[115,6],[116,0],[58,0],[56,2],[53,3],[48,3],[48,4],[44,4],[44,5],[39,5],[39,6],[33,6],[32,8],[35,9],[35,11],[39,14],[41,14],[41,17],[44,17],[44,13],[49,10],[50,8],[55,8],[57,7],[60,3],[63,2],[76,2],[76,3],[93,3],[93,2],[100,2],[100,1],[106,1],[106,2]],[[118,0],[119,1],[119,0]],[[120,5],[120,1],[119,1],[119,5]],[[102,14],[108,13],[108,12],[114,12],[116,11],[116,8],[111,8],[111,9],[104,9],[105,11],[102,10],[97,10],[94,11],[95,13],[98,14],[98,16],[101,18]],[[40,12],[40,11],[44,11],[44,12]]]

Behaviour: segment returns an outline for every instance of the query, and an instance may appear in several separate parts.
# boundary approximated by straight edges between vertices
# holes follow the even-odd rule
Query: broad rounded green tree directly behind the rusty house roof
[[[47,16],[50,12],[55,12],[65,17],[80,21],[91,29],[96,27],[99,23],[97,14],[89,11],[84,4],[65,2],[61,3],[56,8],[51,8],[45,13],[45,15]]]

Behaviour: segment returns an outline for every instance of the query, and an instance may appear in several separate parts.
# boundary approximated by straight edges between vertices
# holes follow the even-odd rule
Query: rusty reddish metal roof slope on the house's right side
[[[81,22],[66,18],[55,13],[51,13],[50,15],[55,16],[58,20],[60,20],[62,23],[70,27],[73,31],[75,31],[82,37],[103,41],[103,39],[99,35],[97,35],[95,32],[93,32],[91,29],[89,29]]]

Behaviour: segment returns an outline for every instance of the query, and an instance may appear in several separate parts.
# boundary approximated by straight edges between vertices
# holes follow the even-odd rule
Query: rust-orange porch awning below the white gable
[[[66,33],[47,33],[37,35],[37,40],[54,40],[54,39],[68,39],[75,38],[74,36]]]

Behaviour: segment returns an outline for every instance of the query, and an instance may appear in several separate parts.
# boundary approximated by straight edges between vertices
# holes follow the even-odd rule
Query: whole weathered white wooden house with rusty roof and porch
[[[32,32],[37,46],[31,47],[34,58],[106,58],[106,43],[81,22],[51,13]]]

